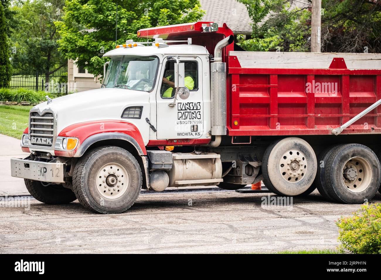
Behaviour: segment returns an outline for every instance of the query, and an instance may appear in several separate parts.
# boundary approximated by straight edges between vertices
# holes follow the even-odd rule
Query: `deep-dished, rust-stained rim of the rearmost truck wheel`
[[[343,183],[351,192],[362,192],[372,181],[370,163],[362,157],[350,158],[343,167]]]

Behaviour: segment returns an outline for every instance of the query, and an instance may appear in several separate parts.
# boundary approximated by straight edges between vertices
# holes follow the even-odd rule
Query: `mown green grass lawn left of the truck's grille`
[[[0,134],[21,139],[28,126],[29,110],[33,106],[0,105]]]

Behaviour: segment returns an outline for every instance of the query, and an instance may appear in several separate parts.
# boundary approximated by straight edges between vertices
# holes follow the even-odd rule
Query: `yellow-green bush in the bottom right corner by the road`
[[[350,217],[341,217],[339,227],[341,252],[354,254],[381,253],[381,204],[364,204]]]

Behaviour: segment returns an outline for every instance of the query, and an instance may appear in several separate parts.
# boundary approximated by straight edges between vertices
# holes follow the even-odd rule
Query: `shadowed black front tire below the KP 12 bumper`
[[[40,202],[52,205],[67,204],[77,199],[72,190],[60,185],[51,184],[43,186],[40,181],[24,179],[25,186],[29,193]],[[49,184],[49,183],[45,183]]]

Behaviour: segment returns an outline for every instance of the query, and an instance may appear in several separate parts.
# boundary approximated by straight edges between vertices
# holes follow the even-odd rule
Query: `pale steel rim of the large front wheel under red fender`
[[[96,187],[102,197],[116,199],[121,197],[128,188],[128,173],[126,169],[116,162],[102,166],[96,175]]]

